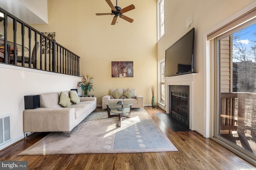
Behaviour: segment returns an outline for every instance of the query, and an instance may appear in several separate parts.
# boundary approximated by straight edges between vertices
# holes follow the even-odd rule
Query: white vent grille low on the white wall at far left
[[[0,117],[0,145],[11,140],[10,115]]]

